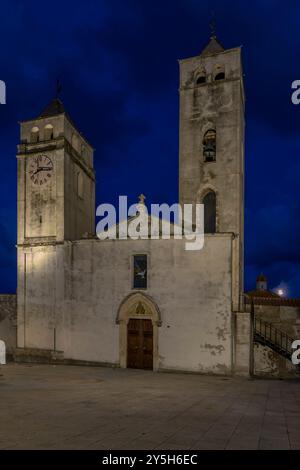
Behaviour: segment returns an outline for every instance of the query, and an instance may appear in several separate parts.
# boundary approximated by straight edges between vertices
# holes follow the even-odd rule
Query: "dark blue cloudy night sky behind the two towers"
[[[16,289],[18,121],[61,99],[96,148],[97,203],[178,200],[178,63],[209,40],[243,45],[246,88],[245,288],[300,296],[300,79],[297,0],[1,1],[0,292]]]

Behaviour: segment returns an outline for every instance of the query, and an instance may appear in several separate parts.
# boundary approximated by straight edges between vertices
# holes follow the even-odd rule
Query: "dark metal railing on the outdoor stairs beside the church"
[[[271,323],[254,318],[254,339],[261,344],[269,346],[282,356],[291,359],[294,339],[284,331],[279,330]]]

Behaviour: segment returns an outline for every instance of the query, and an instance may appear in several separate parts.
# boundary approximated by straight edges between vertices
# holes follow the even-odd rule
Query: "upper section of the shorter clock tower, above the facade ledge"
[[[93,148],[58,98],[21,123],[17,159],[19,246],[94,234]]]

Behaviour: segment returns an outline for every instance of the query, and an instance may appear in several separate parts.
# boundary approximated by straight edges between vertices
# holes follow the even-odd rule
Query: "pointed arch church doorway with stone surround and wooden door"
[[[161,315],[155,302],[140,292],[129,295],[119,307],[116,323],[120,367],[157,370]]]

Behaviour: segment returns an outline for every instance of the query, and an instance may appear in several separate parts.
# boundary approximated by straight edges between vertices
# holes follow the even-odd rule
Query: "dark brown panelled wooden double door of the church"
[[[153,327],[151,320],[131,318],[127,325],[127,367],[153,369]]]

